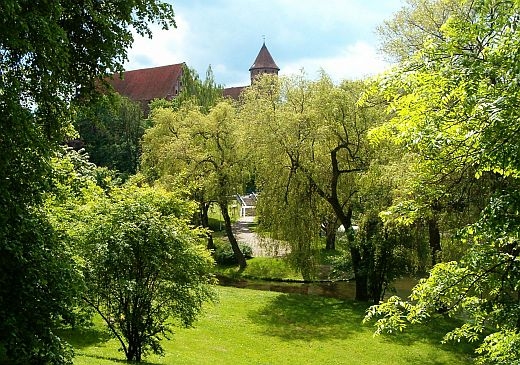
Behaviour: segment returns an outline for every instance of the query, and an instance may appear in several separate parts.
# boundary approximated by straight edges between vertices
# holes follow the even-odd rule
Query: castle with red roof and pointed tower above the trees
[[[139,102],[144,109],[154,99],[171,100],[182,90],[182,69],[185,63],[143,68],[126,71],[123,77],[114,75],[109,83],[119,94]],[[251,83],[258,75],[268,73],[278,75],[280,68],[274,62],[265,42],[258,52],[253,65],[249,68]],[[238,99],[246,86],[229,87],[223,90],[223,96]]]

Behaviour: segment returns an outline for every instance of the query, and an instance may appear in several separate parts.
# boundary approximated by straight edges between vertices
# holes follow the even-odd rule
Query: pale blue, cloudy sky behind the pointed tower
[[[280,75],[335,82],[359,79],[390,65],[379,53],[375,29],[401,0],[177,0],[177,28],[152,26],[152,39],[135,36],[126,70],[186,62],[202,77],[209,65],[226,87],[249,85],[249,68],[262,43]]]

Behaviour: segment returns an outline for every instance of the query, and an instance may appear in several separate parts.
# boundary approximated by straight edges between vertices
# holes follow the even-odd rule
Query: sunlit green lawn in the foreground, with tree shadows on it
[[[441,345],[448,323],[399,336],[373,337],[362,325],[366,305],[319,296],[218,287],[194,328],[176,329],[165,356],[146,364],[470,364],[468,346]],[[444,332],[443,332],[444,331]],[[64,333],[75,365],[118,364],[124,354],[94,328]]]

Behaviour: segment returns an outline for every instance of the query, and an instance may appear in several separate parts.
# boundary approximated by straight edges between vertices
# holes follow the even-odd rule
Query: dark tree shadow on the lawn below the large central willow
[[[345,339],[362,327],[366,304],[297,294],[283,294],[251,319],[265,327],[266,334],[284,340]]]

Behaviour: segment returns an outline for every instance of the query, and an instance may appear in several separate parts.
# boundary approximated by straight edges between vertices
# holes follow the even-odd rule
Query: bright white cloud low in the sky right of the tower
[[[339,82],[373,76],[389,67],[373,46],[360,41],[346,46],[331,57],[303,58],[281,65],[280,74],[297,74],[304,69],[308,76],[314,77],[323,69],[335,82]]]

